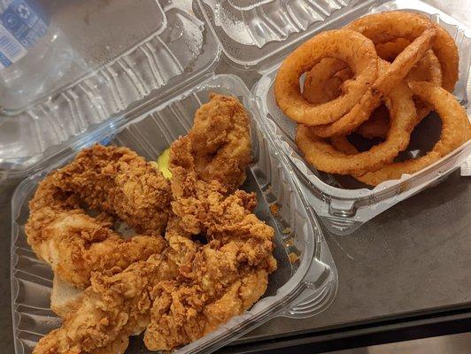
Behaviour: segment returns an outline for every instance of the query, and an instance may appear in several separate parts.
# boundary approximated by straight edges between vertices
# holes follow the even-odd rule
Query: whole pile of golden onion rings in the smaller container
[[[444,28],[417,13],[382,12],[294,50],[276,76],[274,95],[298,123],[296,142],[307,162],[377,185],[415,173],[471,138],[467,114],[448,92],[458,62]],[[443,121],[440,141],[424,157],[393,162],[431,109]],[[383,142],[360,152],[347,139],[353,132]]]

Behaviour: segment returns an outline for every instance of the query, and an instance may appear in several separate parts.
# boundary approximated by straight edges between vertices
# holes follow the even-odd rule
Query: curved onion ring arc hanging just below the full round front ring
[[[390,110],[391,128],[386,140],[369,151],[348,155],[313,134],[313,127],[299,125],[296,143],[307,162],[327,173],[350,174],[359,170],[374,171],[390,163],[401,150],[405,150],[416,120],[412,92],[405,82],[390,91],[384,98]]]

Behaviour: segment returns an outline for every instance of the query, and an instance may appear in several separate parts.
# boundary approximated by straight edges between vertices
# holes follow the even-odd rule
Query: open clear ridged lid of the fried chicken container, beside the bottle
[[[211,71],[220,58],[220,46],[198,19],[192,0],[90,0],[64,6],[52,19],[77,60],[53,82],[53,91],[0,117],[0,169],[12,176],[26,176],[60,144],[73,143],[100,124],[114,124],[129,104],[170,96]]]

